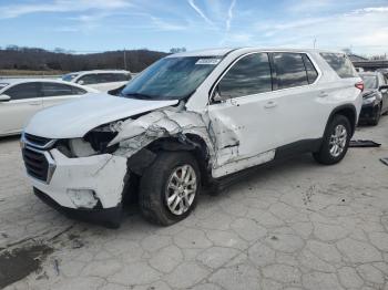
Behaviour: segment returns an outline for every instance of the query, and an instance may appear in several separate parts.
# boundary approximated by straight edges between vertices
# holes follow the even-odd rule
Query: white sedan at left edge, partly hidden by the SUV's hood
[[[54,80],[0,80],[0,136],[18,134],[38,111],[99,91]]]

